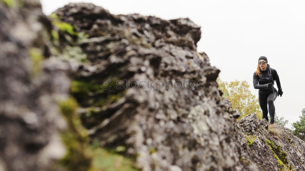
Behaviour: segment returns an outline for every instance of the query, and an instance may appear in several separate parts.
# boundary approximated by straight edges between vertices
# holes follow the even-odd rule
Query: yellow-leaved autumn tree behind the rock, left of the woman
[[[216,82],[218,89],[223,92],[222,97],[229,99],[232,103],[232,109],[241,114],[237,120],[251,113],[256,113],[256,116],[262,119],[258,99],[251,93],[250,85],[246,80],[225,82],[218,77]]]

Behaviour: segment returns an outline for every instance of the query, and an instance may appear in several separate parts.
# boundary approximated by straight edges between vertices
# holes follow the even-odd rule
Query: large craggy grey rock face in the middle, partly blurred
[[[239,113],[217,89],[220,71],[196,51],[199,26],[187,18],[112,15],[87,3],[71,3],[55,14],[88,35],[74,43],[62,36],[59,48],[74,44],[87,55],[74,74],[72,94],[82,106],[84,125],[101,145],[125,146],[125,155],[137,156],[144,171],[258,170],[241,150],[246,141],[235,125]],[[107,80],[115,85],[124,79],[203,81],[204,88],[97,89]]]

